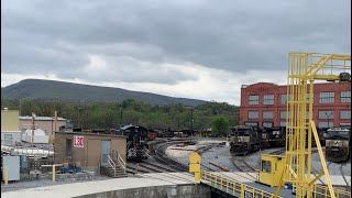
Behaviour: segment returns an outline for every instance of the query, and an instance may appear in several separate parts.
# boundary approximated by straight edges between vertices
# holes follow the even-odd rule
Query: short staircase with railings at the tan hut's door
[[[117,160],[113,160],[108,155],[108,163],[105,165],[101,164],[100,172],[102,175],[113,178],[128,176],[125,173],[125,163],[119,154],[117,154]]]

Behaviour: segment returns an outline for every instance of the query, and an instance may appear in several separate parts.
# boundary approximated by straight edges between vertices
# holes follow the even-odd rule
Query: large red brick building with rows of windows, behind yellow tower
[[[240,123],[286,127],[286,88],[270,82],[243,85]],[[351,125],[351,84],[315,84],[314,120],[319,128]]]

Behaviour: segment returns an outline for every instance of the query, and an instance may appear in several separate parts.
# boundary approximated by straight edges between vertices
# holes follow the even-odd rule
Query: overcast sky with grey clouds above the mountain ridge
[[[240,105],[288,53],[351,54],[351,0],[1,0],[1,87],[26,78]]]

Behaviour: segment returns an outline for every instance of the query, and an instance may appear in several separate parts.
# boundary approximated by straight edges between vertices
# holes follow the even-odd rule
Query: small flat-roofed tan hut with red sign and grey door
[[[80,164],[82,169],[99,173],[108,156],[117,153],[127,161],[127,138],[111,134],[56,132],[55,163]]]

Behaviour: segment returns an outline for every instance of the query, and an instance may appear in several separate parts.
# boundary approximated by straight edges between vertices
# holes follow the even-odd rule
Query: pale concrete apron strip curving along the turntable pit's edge
[[[188,173],[141,174],[138,175],[138,177],[113,178],[107,180],[54,185],[18,191],[8,191],[1,193],[1,197],[66,198],[120,189],[187,184],[194,184],[194,177]]]

